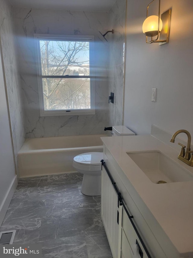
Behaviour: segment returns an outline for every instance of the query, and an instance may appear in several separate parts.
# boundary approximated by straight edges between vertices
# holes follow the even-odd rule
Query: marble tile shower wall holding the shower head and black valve
[[[109,11],[109,94],[114,92],[114,104],[109,104],[108,122],[110,126],[122,125],[124,51],[126,27],[126,0],[117,0]]]

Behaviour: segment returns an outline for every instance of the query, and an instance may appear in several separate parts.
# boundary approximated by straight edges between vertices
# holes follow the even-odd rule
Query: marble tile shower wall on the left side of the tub
[[[7,0],[0,0],[0,35],[2,43],[5,81],[8,93],[8,105],[11,118],[14,154],[17,163],[17,153],[25,140],[23,100],[20,86],[20,76],[16,61],[14,42],[14,11]],[[2,121],[1,121],[2,122]]]

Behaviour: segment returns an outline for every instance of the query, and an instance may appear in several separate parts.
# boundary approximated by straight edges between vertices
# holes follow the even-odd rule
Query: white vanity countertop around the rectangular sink
[[[193,167],[177,157],[180,152],[151,135],[103,137],[115,161],[125,173],[150,212],[180,254],[193,255],[193,181],[155,184],[126,152],[163,152],[179,166],[192,173]]]

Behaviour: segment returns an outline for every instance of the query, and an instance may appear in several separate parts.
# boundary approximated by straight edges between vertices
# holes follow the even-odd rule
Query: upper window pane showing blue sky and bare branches
[[[89,42],[40,40],[42,75],[89,75]]]

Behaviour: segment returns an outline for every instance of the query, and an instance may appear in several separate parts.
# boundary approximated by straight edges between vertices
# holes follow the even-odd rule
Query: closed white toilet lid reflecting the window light
[[[87,152],[74,157],[74,162],[84,165],[100,165],[103,159],[103,152]]]

